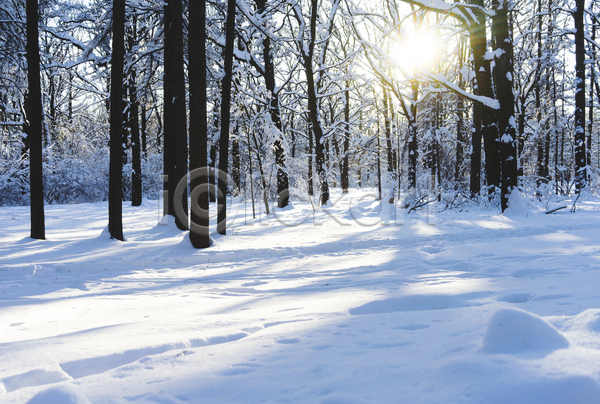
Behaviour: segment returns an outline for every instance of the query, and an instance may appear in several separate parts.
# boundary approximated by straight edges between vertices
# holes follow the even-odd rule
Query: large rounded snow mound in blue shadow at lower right
[[[482,352],[518,354],[552,352],[569,343],[542,318],[515,309],[494,313],[483,337]]]

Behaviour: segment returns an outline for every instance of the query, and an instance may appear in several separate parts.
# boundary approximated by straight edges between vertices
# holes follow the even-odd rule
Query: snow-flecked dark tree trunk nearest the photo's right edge
[[[575,189],[586,185],[585,153],[585,24],[584,0],[575,0]]]

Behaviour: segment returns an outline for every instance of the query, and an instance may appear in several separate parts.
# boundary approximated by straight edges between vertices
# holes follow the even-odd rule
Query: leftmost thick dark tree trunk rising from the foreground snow
[[[42,174],[42,89],[40,84],[40,47],[38,43],[38,3],[27,0],[27,121],[29,142],[29,207],[31,238],[45,240],[44,178]]]

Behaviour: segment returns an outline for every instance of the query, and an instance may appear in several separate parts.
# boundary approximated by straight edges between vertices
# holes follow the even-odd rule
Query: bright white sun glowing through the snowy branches
[[[390,56],[401,70],[414,74],[435,68],[440,55],[439,48],[439,36],[429,29],[414,32],[402,30],[390,49]]]

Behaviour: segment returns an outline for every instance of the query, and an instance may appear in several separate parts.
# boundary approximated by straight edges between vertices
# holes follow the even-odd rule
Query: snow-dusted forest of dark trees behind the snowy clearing
[[[211,203],[226,234],[235,196],[268,215],[333,188],[409,210],[595,192],[599,9],[6,0],[0,205],[30,205],[44,238],[44,204],[108,200],[123,239],[121,201],[164,196],[207,247]]]

